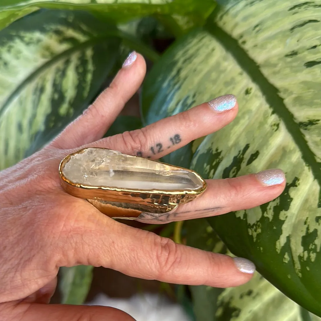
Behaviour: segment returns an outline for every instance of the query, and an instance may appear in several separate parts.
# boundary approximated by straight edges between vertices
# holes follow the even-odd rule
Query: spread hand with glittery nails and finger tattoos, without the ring
[[[251,278],[254,266],[245,259],[235,261],[127,226],[61,188],[60,160],[85,146],[158,159],[219,130],[236,116],[237,103],[228,96],[228,101],[218,98],[141,130],[101,139],[145,76],[144,59],[138,54],[134,59],[135,55],[54,141],[0,173],[2,320],[132,320],[113,308],[43,304],[55,290],[60,266],[104,266],[144,279],[214,287],[236,286]],[[285,179],[279,170],[207,184],[203,195],[170,215],[138,220],[166,223],[248,209],[280,195]]]

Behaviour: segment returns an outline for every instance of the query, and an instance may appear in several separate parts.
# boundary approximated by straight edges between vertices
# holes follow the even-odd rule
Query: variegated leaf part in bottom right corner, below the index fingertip
[[[303,310],[259,273],[236,288],[191,286],[197,321],[320,321]]]

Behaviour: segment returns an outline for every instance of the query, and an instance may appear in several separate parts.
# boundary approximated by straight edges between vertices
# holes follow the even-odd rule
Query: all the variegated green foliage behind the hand
[[[146,229],[249,258],[266,278],[257,273],[235,289],[177,286],[178,301],[193,306],[197,321],[318,320],[307,310],[321,315],[321,7],[217,2],[2,0],[0,169],[51,141],[131,50],[154,63],[140,95],[142,117],[119,116],[107,136],[232,92],[240,105],[236,120],[163,161],[204,178],[281,167],[285,192],[260,207],[210,218],[210,225],[203,219]],[[92,267],[60,273],[63,302],[83,303]]]

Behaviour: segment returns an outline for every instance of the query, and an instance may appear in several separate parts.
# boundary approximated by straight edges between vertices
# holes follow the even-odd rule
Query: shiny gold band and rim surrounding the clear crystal
[[[135,189],[135,188],[119,188],[112,186],[93,186],[86,185],[82,182],[71,181],[68,179],[64,173],[65,165],[71,160],[75,155],[79,155],[87,151],[88,149],[82,149],[76,153],[72,153],[65,157],[59,165],[59,176],[61,179],[61,185],[64,190],[73,196],[87,199],[89,203],[93,204],[100,212],[113,218],[123,218],[123,219],[135,219],[141,213],[166,213],[175,209],[179,204],[187,203],[195,199],[198,195],[204,192],[206,189],[206,183],[196,172],[190,169],[184,169],[177,166],[167,165],[156,160],[146,160],[148,165],[150,162],[161,164],[159,166],[167,166],[173,172],[179,173],[183,171],[188,171],[195,178],[198,179],[199,185],[195,189],[177,189],[177,190],[157,190],[157,189]],[[93,150],[93,148],[92,148]],[[138,156],[124,155],[116,151],[111,151],[104,149],[106,151],[118,153],[117,155],[122,155],[130,158],[131,164],[135,162],[142,162],[142,158]],[[108,157],[108,156],[107,156]],[[139,165],[141,166],[141,165]],[[100,170],[100,169],[98,169]],[[106,170],[105,170],[106,171]],[[117,170],[115,171],[117,173]],[[114,175],[114,174],[113,174]],[[170,175],[167,175],[170,179]],[[164,179],[164,178],[163,178]],[[166,178],[165,178],[166,179]],[[81,178],[80,178],[81,180]],[[111,179],[112,181],[112,179]]]

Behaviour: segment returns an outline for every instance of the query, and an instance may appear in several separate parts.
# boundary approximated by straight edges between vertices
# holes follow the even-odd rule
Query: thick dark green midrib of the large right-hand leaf
[[[283,121],[285,127],[298,146],[302,159],[310,167],[314,178],[317,180],[320,191],[318,207],[321,207],[321,168],[314,153],[310,149],[308,142],[302,134],[299,124],[294,120],[293,114],[284,104],[283,99],[278,95],[278,89],[273,86],[262,74],[255,61],[248,56],[241,48],[236,39],[232,38],[227,32],[222,30],[217,24],[208,24],[208,30],[214,38],[225,48],[225,50],[236,60],[244,72],[260,88],[266,101],[273,112]]]

